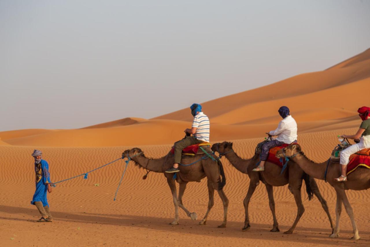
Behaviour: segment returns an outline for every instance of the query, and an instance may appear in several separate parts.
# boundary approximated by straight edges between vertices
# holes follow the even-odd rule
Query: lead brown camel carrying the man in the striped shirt
[[[175,180],[173,179],[173,173],[166,173],[164,172],[166,169],[170,168],[174,164],[174,155],[170,152],[159,159],[151,159],[147,158],[144,155],[144,152],[141,151],[139,148],[132,148],[126,150],[122,153],[122,158],[129,158],[134,161],[135,165],[147,169],[153,172],[162,172],[164,176],[167,178],[167,183],[169,188],[172,192],[172,197],[174,199],[175,205],[175,219],[171,225],[178,225],[179,223],[179,214],[178,214],[178,207],[181,207],[186,215],[188,215],[192,220],[197,219],[196,213],[190,213],[182,203],[182,196],[184,195],[184,191],[186,188],[186,184],[188,182],[199,182],[202,178],[207,177],[207,187],[208,187],[208,209],[203,217],[203,219],[199,222],[199,225],[205,225],[207,221],[207,217],[209,211],[213,207],[213,194],[214,190],[217,190],[222,203],[223,203],[223,222],[219,225],[219,228],[226,227],[226,220],[227,220],[227,212],[228,212],[228,205],[229,200],[226,197],[225,193],[223,192],[223,187],[226,184],[225,174],[223,172],[223,167],[221,161],[213,161],[211,158],[201,159],[204,157],[205,154],[202,155],[195,155],[194,157],[189,158],[182,158],[182,165],[179,166],[180,171],[177,172],[176,181],[179,183],[179,196],[177,197],[176,192],[176,185]],[[213,155],[213,158],[217,158]],[[201,159],[201,160],[199,160]],[[198,162],[196,162],[198,161]],[[191,164],[195,162],[195,164],[189,166],[183,166],[187,164]],[[220,179],[220,175],[222,179]]]

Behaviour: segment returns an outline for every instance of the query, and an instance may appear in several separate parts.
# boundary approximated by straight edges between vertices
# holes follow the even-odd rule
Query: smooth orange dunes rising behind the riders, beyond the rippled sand
[[[299,132],[356,127],[356,110],[369,104],[370,49],[326,70],[305,73],[268,86],[202,103],[211,120],[211,140],[262,137],[276,127],[286,105]],[[188,107],[152,119],[123,118],[81,129],[22,129],[0,132],[16,146],[127,146],[172,144],[182,138],[192,116]],[[343,126],[342,126],[343,124]],[[141,137],[133,133],[140,131]],[[166,133],[158,135],[158,133]]]

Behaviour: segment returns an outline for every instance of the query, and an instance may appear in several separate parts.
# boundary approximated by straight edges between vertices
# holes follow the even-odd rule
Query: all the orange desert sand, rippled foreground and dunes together
[[[293,76],[268,86],[202,103],[211,121],[211,142],[233,141],[242,158],[252,157],[265,132],[280,121],[277,109],[287,105],[298,123],[299,143],[316,162],[329,158],[338,144],[337,135],[356,132],[360,125],[357,108],[369,106],[364,92],[370,90],[370,49],[326,70]],[[118,117],[119,118],[119,117]],[[354,210],[360,240],[350,240],[352,227],[344,211],[340,237],[329,238],[330,225],[317,198],[308,201],[302,188],[305,213],[291,235],[296,215],[293,195],[287,186],[274,187],[280,233],[270,233],[272,216],[263,185],[249,205],[251,228],[241,231],[243,199],[249,178],[226,159],[224,191],[229,198],[228,224],[222,221],[222,203],[215,205],[207,225],[198,222],[206,212],[206,179],[189,183],[185,206],[198,214],[192,221],[179,210],[180,224],[168,225],[174,216],[171,192],[162,174],[149,173],[129,163],[113,201],[124,161],[120,160],[83,177],[69,180],[48,194],[53,223],[36,223],[40,216],[30,205],[34,193],[31,153],[43,151],[50,165],[51,180],[63,180],[120,158],[122,151],[140,147],[148,157],[165,155],[173,142],[183,137],[192,116],[184,109],[153,119],[123,118],[80,129],[25,129],[0,132],[0,243],[1,246],[369,246],[368,191],[347,191]],[[141,136],[133,133],[140,131]],[[156,133],[162,132],[165,135]],[[317,181],[335,221],[334,189]],[[99,186],[94,186],[95,184]]]

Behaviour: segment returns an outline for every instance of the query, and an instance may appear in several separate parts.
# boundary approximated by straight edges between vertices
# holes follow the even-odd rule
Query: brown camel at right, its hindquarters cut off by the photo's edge
[[[303,169],[303,171],[317,179],[325,180],[325,170],[327,167],[326,180],[329,182],[330,185],[334,187],[334,190],[337,194],[337,203],[335,209],[336,226],[334,232],[329,237],[332,238],[339,237],[339,218],[340,213],[342,212],[342,202],[343,202],[344,208],[346,208],[346,212],[351,219],[353,227],[353,237],[351,237],[351,239],[360,239],[359,231],[357,230],[356,222],[354,221],[353,210],[351,204],[348,201],[345,190],[369,189],[370,169],[362,167],[357,168],[355,171],[351,172],[348,175],[348,181],[337,182],[334,181],[334,178],[339,177],[341,174],[340,171],[341,168],[339,163],[333,163],[329,161],[325,161],[323,163],[315,163],[306,157],[306,155],[302,152],[300,146],[297,144],[289,145],[286,148],[279,150],[279,152],[277,152],[276,154],[276,157],[284,156],[294,161],[297,165],[299,165]]]

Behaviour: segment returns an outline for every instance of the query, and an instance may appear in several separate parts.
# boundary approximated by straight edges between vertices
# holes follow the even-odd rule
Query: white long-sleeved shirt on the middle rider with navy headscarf
[[[290,144],[297,139],[297,123],[289,115],[279,122],[277,129],[270,131],[270,135],[277,135],[277,141]]]

